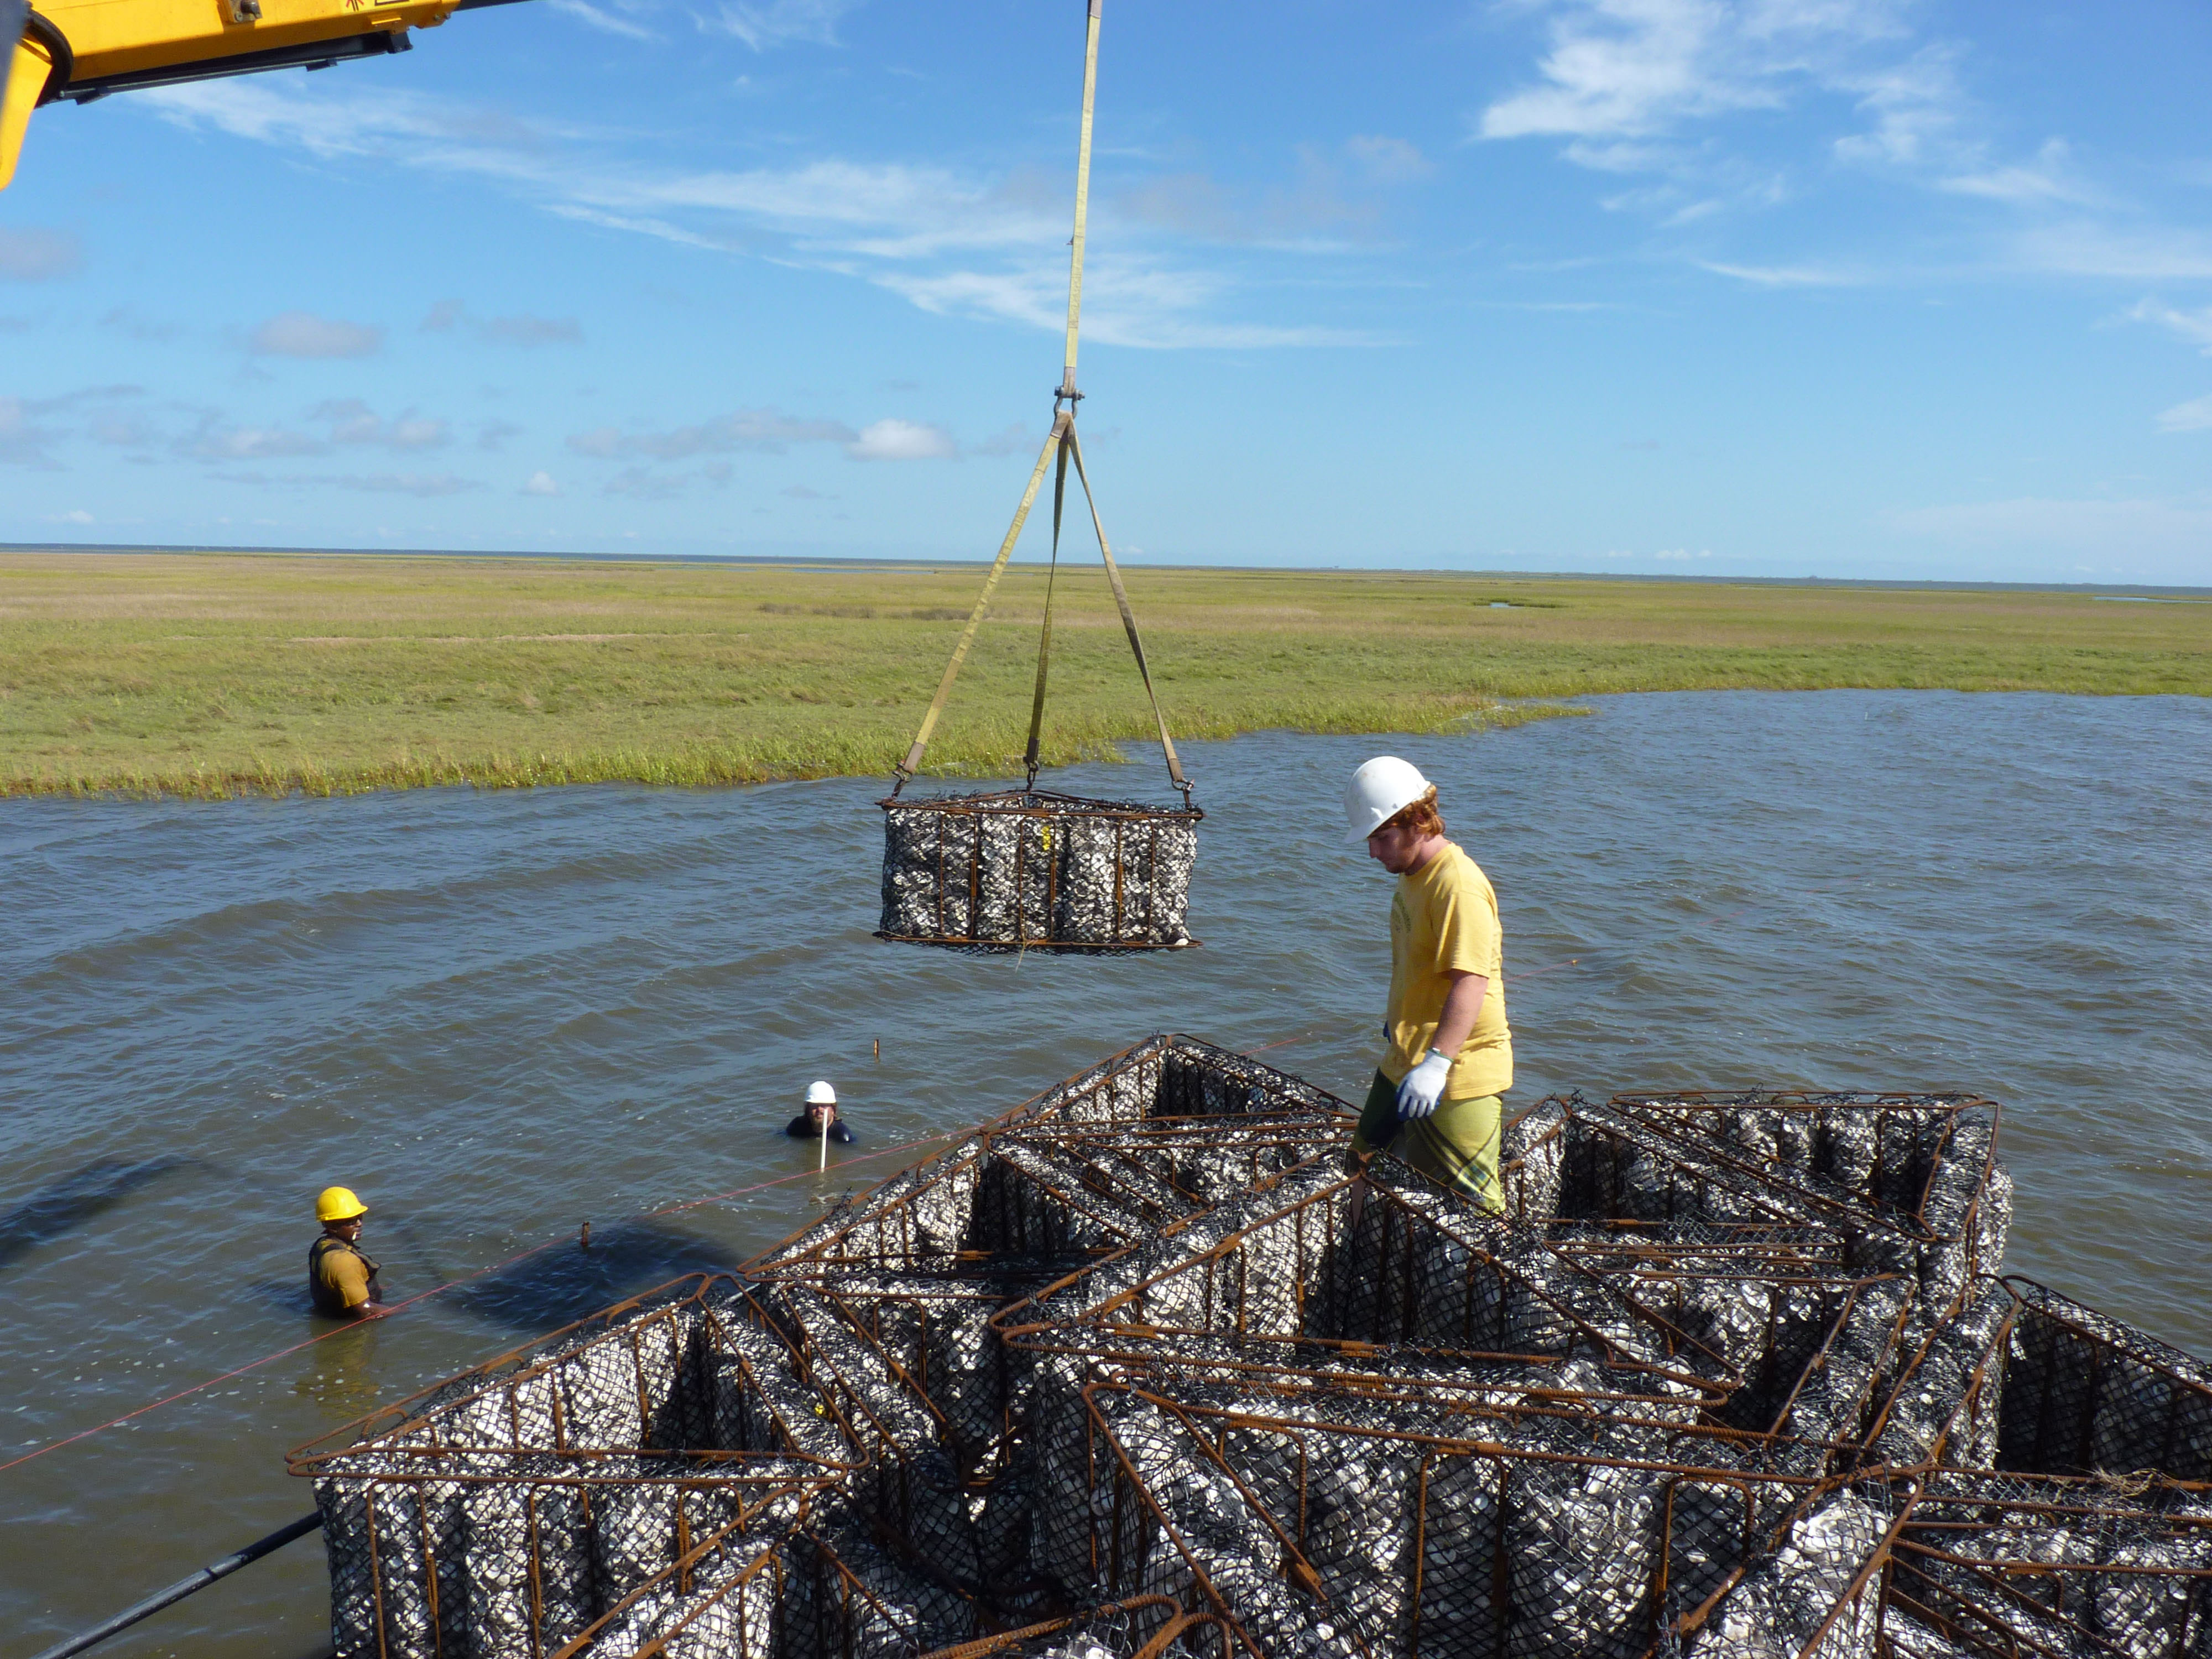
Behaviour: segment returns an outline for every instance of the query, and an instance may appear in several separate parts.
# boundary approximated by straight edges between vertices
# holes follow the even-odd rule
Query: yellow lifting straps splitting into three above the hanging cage
[[[1029,706],[1029,750],[1022,757],[1029,768],[1029,787],[1035,787],[1037,783],[1037,743],[1044,730],[1044,681],[1053,659],[1053,584],[1060,575],[1060,513],[1068,487],[1068,460],[1073,460],[1075,478],[1084,487],[1084,502],[1091,507],[1091,529],[1099,538],[1099,557],[1106,562],[1106,580],[1113,584],[1113,599],[1121,608],[1121,628],[1128,633],[1128,648],[1137,657],[1137,675],[1144,679],[1144,695],[1152,703],[1152,721],[1159,726],[1159,745],[1168,757],[1168,776],[1175,781],[1175,787],[1183,792],[1183,801],[1190,801],[1190,781],[1183,776],[1183,763],[1175,754],[1175,739],[1168,737],[1168,717],[1159,708],[1159,692],[1152,688],[1152,668],[1144,657],[1144,639],[1137,635],[1137,613],[1128,606],[1128,588],[1121,584],[1121,566],[1113,562],[1113,549],[1106,544],[1106,526],[1099,522],[1097,498],[1091,493],[1091,473],[1084,469],[1084,447],[1075,438],[1075,405],[1084,396],[1075,389],[1075,343],[1084,307],[1084,228],[1088,223],[1091,204],[1091,115],[1097,106],[1099,84],[1099,4],[1102,0],[1091,0],[1084,24],[1084,119],[1082,137],[1075,148],[1075,234],[1068,239],[1068,347],[1062,358],[1060,389],[1053,394],[1053,429],[1044,438],[1037,465],[1029,473],[1029,489],[1022,491],[1022,504],[1013,513],[1006,540],[998,546],[998,557],[991,562],[991,575],[984,577],[982,595],[969,613],[967,628],[960,630],[960,641],[953,646],[953,659],[945,664],[945,679],[938,681],[938,695],[929,701],[929,712],[922,714],[922,728],[914,734],[914,745],[907,750],[907,759],[894,768],[894,796],[907,787],[907,779],[911,779],[922,765],[922,750],[929,748],[929,737],[938,730],[938,717],[945,714],[945,703],[951,697],[953,679],[960,675],[960,664],[967,661],[969,646],[975,644],[975,630],[982,628],[982,617],[991,608],[991,593],[998,588],[998,580],[1006,573],[1006,560],[1013,557],[1013,544],[1022,538],[1022,526],[1029,522],[1029,509],[1037,502],[1037,489],[1044,484],[1044,467],[1057,453],[1060,465],[1053,478],[1053,562],[1044,577],[1044,622],[1037,635],[1037,690]],[[1066,403],[1066,409],[1060,407],[1062,403]]]

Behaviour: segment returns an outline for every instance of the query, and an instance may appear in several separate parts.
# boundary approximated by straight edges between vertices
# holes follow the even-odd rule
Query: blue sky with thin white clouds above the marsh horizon
[[[1106,0],[1135,560],[2212,582],[2212,11]],[[987,557],[1082,0],[531,0],[49,106],[0,540]],[[1035,544],[1042,553],[1042,544]]]

